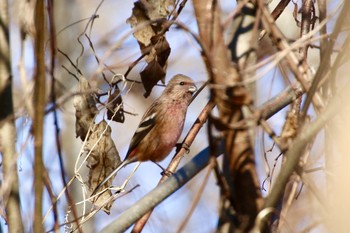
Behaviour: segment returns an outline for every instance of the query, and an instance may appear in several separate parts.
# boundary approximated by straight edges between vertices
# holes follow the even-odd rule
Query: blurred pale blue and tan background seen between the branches
[[[222,21],[227,20],[230,14],[236,8],[235,1],[219,1],[222,8]],[[271,9],[279,1],[271,2]],[[300,1],[294,1],[300,6]],[[329,1],[329,12],[335,12],[339,1]],[[56,40],[57,47],[67,54],[72,61],[78,61],[78,67],[84,76],[92,82],[96,82],[101,90],[108,90],[108,85],[101,79],[96,78],[96,70],[98,64],[95,60],[94,52],[89,46],[89,41],[84,36],[88,34],[93,43],[95,54],[100,59],[105,58],[104,63],[113,69],[117,74],[124,74],[128,66],[140,56],[139,45],[136,39],[132,36],[130,25],[126,20],[132,13],[134,6],[133,1],[97,1],[97,0],[60,0],[54,2],[54,15],[56,22]],[[26,232],[31,232],[33,219],[33,138],[31,136],[31,121],[26,116],[26,101],[28,95],[33,91],[33,30],[30,14],[33,9],[33,1],[10,1],[10,19],[11,19],[11,55],[12,55],[12,71],[14,81],[14,102],[15,109],[19,109],[18,118],[16,120],[17,127],[17,151],[18,151],[18,174],[19,187],[21,194],[21,211]],[[295,5],[290,3],[281,17],[277,20],[283,33],[290,40],[299,38],[299,28],[296,26],[293,17]],[[93,24],[87,27],[88,20],[93,16],[98,16],[94,19]],[[188,2],[181,12],[178,20],[189,27],[194,33],[198,33],[197,22],[192,8],[192,2]],[[332,30],[334,19],[329,21],[329,30]],[[26,40],[23,42],[23,61],[21,64],[21,31],[27,33]],[[166,82],[175,74],[182,73],[190,76],[195,80],[197,86],[202,85],[208,78],[206,68],[204,66],[201,51],[193,40],[193,38],[183,30],[172,27],[166,33],[167,40],[171,47],[171,54],[168,60],[168,69]],[[78,41],[79,39],[79,41]],[[316,42],[317,44],[317,42]],[[112,48],[116,48],[113,49]],[[266,42],[261,45],[260,61],[263,61],[274,49]],[[47,49],[49,53],[49,50]],[[110,54],[110,55],[108,55]],[[106,57],[108,55],[108,57]],[[317,47],[309,49],[308,62],[317,69],[319,65],[319,50]],[[23,65],[23,66],[21,66]],[[139,72],[146,65],[145,62],[140,62],[129,74],[128,78],[140,80]],[[70,75],[65,68],[72,73],[76,73],[71,66],[67,57],[58,53],[56,60],[55,77],[57,79],[56,95],[58,100],[62,101],[62,105],[58,109],[60,139],[62,142],[62,150],[64,155],[64,165],[66,168],[66,179],[70,180],[74,177],[74,166],[79,157],[82,142],[76,138],[75,133],[75,109],[73,107],[73,98],[69,98],[72,93],[77,91],[78,82]],[[261,106],[267,100],[271,99],[281,92],[289,83],[281,73],[279,66],[262,66],[257,73],[263,73],[256,81],[256,96],[255,105]],[[347,68],[339,72],[338,75],[345,75],[348,72]],[[105,71],[107,79],[111,79],[112,74]],[[343,80],[343,78],[340,78]],[[47,98],[50,95],[50,82],[47,82]],[[122,89],[123,86],[120,85]],[[157,86],[153,89],[151,95],[145,99],[143,97],[144,89],[139,83],[128,84],[122,91],[124,109],[135,115],[126,114],[124,123],[111,122],[112,138],[123,159],[129,146],[131,137],[133,136],[136,127],[144,113],[155,98],[163,91],[163,87]],[[198,114],[201,112],[207,100],[209,99],[209,91],[205,89],[199,94],[188,109],[185,129],[180,141],[187,134],[188,130],[195,122]],[[48,106],[47,108],[50,108]],[[310,112],[311,119],[315,114]],[[268,120],[270,126],[277,134],[280,134],[285,121],[286,109],[275,114]],[[101,111],[96,121],[106,119],[106,112]],[[49,172],[49,176],[53,184],[53,192],[58,195],[63,189],[61,180],[61,171],[57,156],[56,141],[55,141],[55,124],[52,113],[45,117],[44,131],[44,163]],[[196,137],[190,152],[182,160],[182,164],[189,161],[203,148],[208,146],[207,129],[204,126],[199,135]],[[311,155],[307,161],[306,167],[316,169],[315,172],[310,172],[308,182],[311,182],[314,188],[310,191],[309,187],[298,187],[300,193],[296,201],[291,207],[291,210],[286,216],[287,223],[285,232],[327,232],[327,228],[323,222],[327,216],[327,210],[322,208],[322,200],[317,197],[326,198],[326,172],[324,169],[324,135],[321,133],[317,138],[312,149]],[[261,189],[266,195],[273,184],[273,178],[277,177],[282,159],[278,157],[280,151],[274,147],[269,136],[263,133],[261,129],[256,131],[255,143],[256,161],[258,174],[261,181]],[[167,159],[160,164],[166,167],[171,160],[172,152]],[[219,158],[220,160],[220,158]],[[342,160],[343,161],[343,160]],[[182,166],[182,165],[180,165]],[[131,173],[134,165],[131,164],[122,169],[114,180],[115,185],[120,185],[121,182]],[[319,168],[319,169],[318,169]],[[131,193],[118,198],[112,209],[111,214],[100,211],[95,217],[84,224],[83,232],[98,232],[108,223],[116,219],[124,210],[132,206],[137,200],[143,197],[146,193],[152,190],[161,178],[161,169],[151,162],[143,163],[133,176],[131,182],[127,186],[127,190],[136,185],[140,185]],[[87,169],[79,171],[84,181],[87,181]],[[193,180],[186,184],[183,188],[171,195],[162,204],[157,206],[147,223],[144,232],[176,232],[179,227],[179,222],[182,222],[187,216],[194,197],[198,194],[198,189],[204,181],[204,176],[207,169],[204,169]],[[346,175],[341,175],[342,177]],[[272,178],[271,178],[272,177]],[[348,187],[348,186],[345,186]],[[82,184],[75,180],[70,188],[75,202],[83,200]],[[334,192],[336,189],[334,189]],[[318,195],[315,195],[315,192]],[[199,204],[196,206],[194,213],[188,221],[183,232],[214,232],[218,221],[218,198],[219,187],[217,186],[214,174],[210,175],[206,183],[206,187],[201,194]],[[47,192],[44,192],[44,209],[46,214],[51,206],[51,201]],[[58,217],[61,224],[65,223],[71,216],[71,212],[67,209],[67,200],[63,195],[57,203]],[[78,215],[83,212],[83,205],[77,205]],[[53,216],[48,214],[45,219],[45,231],[50,231],[53,228]],[[3,218],[0,218],[1,231],[7,232],[7,227]],[[314,225],[312,225],[314,224]],[[312,227],[310,227],[312,226]],[[341,227],[341,229],[344,229]],[[68,232],[69,227],[61,228],[62,232]],[[130,231],[130,229],[129,229]],[[340,232],[340,231],[338,231]],[[345,232],[345,231],[343,231]]]

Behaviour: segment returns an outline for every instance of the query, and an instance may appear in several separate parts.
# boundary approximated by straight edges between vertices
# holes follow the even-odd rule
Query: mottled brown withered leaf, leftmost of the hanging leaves
[[[90,84],[83,76],[79,77],[79,93],[73,99],[76,117],[75,132],[76,137],[84,141],[89,128],[94,123],[98,109]]]

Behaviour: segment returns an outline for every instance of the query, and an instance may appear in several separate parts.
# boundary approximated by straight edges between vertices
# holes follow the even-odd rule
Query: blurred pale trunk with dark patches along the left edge
[[[18,191],[16,126],[12,100],[12,74],[9,41],[8,1],[0,0],[0,153],[2,154],[4,182],[0,197],[7,213],[10,232],[24,232]],[[8,188],[7,188],[8,187]],[[9,195],[9,196],[8,196]],[[8,196],[8,199],[5,198]]]

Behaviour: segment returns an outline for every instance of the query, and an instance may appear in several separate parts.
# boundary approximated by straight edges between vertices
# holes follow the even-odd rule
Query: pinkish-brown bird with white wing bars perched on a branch
[[[183,74],[171,78],[161,96],[141,118],[123,162],[96,186],[91,196],[126,165],[165,159],[181,136],[187,108],[196,91],[191,78]]]

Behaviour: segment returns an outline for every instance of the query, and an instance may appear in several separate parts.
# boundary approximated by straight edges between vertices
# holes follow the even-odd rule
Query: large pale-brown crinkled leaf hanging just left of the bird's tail
[[[102,120],[94,127],[85,144],[84,153],[90,153],[87,166],[90,169],[88,187],[91,192],[121,163],[118,150],[111,138],[111,132],[111,127],[105,120]],[[114,177],[108,180],[100,190],[111,186]],[[102,210],[109,214],[113,202],[105,202],[111,196],[112,192],[108,190],[94,199],[93,204],[98,207],[103,205]]]

